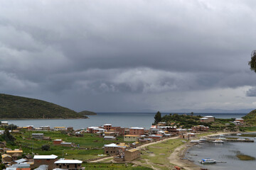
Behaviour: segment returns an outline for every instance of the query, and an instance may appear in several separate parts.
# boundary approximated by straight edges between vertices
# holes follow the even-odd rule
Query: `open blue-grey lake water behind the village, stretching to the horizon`
[[[113,126],[132,127],[139,126],[150,128],[154,122],[156,113],[97,113],[97,115],[89,115],[89,119],[61,119],[61,120],[4,120],[14,123],[18,126],[33,125],[39,127],[41,125],[73,127],[74,129],[87,128],[90,126],[100,126],[105,123],[111,123]],[[184,113],[179,113],[184,114]],[[162,113],[169,115],[169,113]],[[215,118],[241,118],[246,113],[194,113],[194,115],[213,115]]]

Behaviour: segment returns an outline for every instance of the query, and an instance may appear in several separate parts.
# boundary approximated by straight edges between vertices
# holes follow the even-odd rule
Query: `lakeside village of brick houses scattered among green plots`
[[[214,121],[213,116],[200,118],[201,123]],[[242,125],[243,119],[237,118],[233,124]],[[2,121],[1,128],[6,127],[10,127],[9,122]],[[85,166],[82,166],[83,162],[97,162],[108,157],[112,157],[112,162],[133,162],[141,157],[140,148],[144,145],[171,137],[188,142],[196,139],[198,134],[208,132],[209,128],[205,125],[196,125],[186,129],[159,122],[151,125],[149,129],[122,128],[112,124],[82,130],[74,130],[72,127],[50,128],[48,125],[38,128],[33,125],[11,125],[11,129],[7,131],[16,138],[16,145],[9,145],[6,141],[0,142],[1,164],[4,164],[4,169],[73,170],[85,169]],[[1,135],[8,132],[0,131]]]

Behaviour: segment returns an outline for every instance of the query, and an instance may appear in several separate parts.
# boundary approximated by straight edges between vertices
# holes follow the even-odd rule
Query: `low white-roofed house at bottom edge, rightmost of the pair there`
[[[76,159],[59,159],[54,162],[55,168],[58,169],[68,169],[68,170],[78,170],[83,169],[81,164],[82,161]]]

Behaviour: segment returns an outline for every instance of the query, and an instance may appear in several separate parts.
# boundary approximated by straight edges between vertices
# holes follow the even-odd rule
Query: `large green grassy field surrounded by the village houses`
[[[62,132],[56,131],[43,131],[43,134],[46,137],[50,137],[51,140],[33,140],[31,139],[32,132],[30,131],[23,131],[22,134],[13,134],[14,137],[16,137],[16,145],[7,145],[7,147],[11,149],[21,147],[23,149],[23,153],[25,154],[31,152],[35,154],[55,154],[58,155],[58,157],[64,156],[67,159],[80,159],[85,161],[87,159],[97,158],[97,154],[103,154],[104,152],[102,147],[105,144],[110,144],[112,142],[123,142],[122,137],[118,137],[117,141],[106,141],[102,137],[98,137],[94,134],[85,134],[84,137],[68,136]],[[73,142],[75,145],[79,144],[80,148],[54,146],[53,140],[55,139],[61,139],[65,142]],[[42,151],[42,145],[50,145],[50,150]]]

